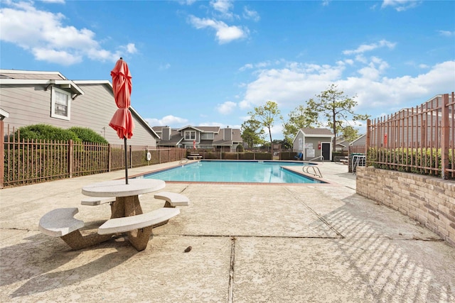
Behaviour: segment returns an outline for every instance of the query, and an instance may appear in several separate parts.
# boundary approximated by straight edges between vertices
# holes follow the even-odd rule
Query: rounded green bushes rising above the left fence
[[[20,133],[21,140],[50,140],[50,141],[68,141],[81,142],[80,138],[73,131],[59,128],[47,124],[33,124],[22,126],[14,133],[16,141]]]

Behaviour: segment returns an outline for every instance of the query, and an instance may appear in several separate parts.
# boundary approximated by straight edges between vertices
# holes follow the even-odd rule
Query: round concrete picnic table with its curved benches
[[[127,233],[132,246],[137,250],[144,250],[152,228],[180,213],[179,209],[172,207],[143,213],[139,194],[156,192],[165,186],[163,180],[156,179],[132,179],[129,184],[126,184],[125,180],[89,184],[82,187],[82,194],[90,197],[115,197],[115,202],[110,204],[111,217],[98,228],[97,233],[82,236],[79,229],[84,226],[84,222],[74,218],[78,212],[75,207],[48,212],[41,218],[39,229],[48,236],[59,236],[73,249],[107,241],[115,233]]]

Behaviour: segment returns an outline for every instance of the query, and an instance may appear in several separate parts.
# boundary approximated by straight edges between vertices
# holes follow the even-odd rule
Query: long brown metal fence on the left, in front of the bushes
[[[0,121],[0,188],[123,170],[124,145],[69,141],[23,140]],[[178,161],[184,148],[127,145],[129,168]]]

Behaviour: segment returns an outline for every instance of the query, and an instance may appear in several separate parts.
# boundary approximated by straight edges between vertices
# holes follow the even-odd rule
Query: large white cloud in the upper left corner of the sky
[[[114,52],[105,50],[95,40],[94,32],[65,26],[65,20],[62,13],[38,10],[33,2],[4,2],[0,9],[0,39],[28,50],[36,60],[60,65],[73,65],[82,62],[84,57],[115,62],[121,50],[137,51],[133,43]]]

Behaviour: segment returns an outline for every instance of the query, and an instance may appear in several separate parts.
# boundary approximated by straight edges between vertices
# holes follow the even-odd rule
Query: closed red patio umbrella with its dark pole
[[[124,139],[125,145],[125,181],[128,184],[128,165],[127,165],[127,139],[133,136],[134,122],[129,111],[131,105],[131,74],[127,62],[122,58],[117,61],[114,69],[111,71],[112,77],[112,91],[114,92],[115,103],[117,104],[117,111],[112,116],[109,126],[117,131],[117,136]]]

